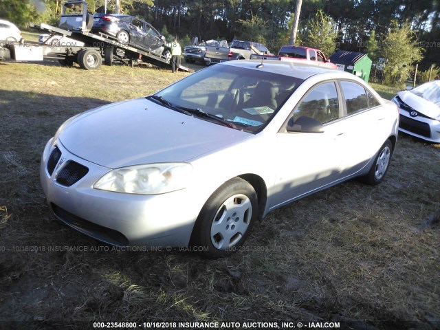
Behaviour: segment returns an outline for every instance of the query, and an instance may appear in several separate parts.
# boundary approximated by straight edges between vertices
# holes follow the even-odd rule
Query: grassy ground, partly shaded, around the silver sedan
[[[186,75],[0,62],[0,329],[111,321],[439,329],[440,146],[406,135],[382,184],[349,181],[278,209],[225,259],[112,251],[50,214],[39,162],[58,126]]]

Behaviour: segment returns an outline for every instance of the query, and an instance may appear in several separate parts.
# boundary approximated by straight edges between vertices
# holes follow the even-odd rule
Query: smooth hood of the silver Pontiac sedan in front
[[[65,123],[57,133],[71,153],[109,168],[187,162],[251,136],[145,98],[87,111]]]

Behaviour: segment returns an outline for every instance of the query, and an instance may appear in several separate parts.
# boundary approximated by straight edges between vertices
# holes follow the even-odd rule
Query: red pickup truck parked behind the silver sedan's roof
[[[322,67],[329,67],[330,69],[337,69],[336,64],[331,63],[324,53],[310,47],[291,46],[286,45],[281,47],[281,50],[276,56],[257,55],[252,54],[250,58],[264,58],[265,60],[279,60],[279,61],[304,61],[308,64],[314,64]]]

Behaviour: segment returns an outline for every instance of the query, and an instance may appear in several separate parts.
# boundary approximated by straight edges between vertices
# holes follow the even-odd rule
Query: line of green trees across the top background
[[[56,23],[61,3],[0,0],[0,17],[22,27],[30,21]],[[104,0],[87,3],[91,12],[103,11]],[[121,0],[121,5],[122,12],[145,19],[168,38],[247,39],[276,53],[289,41],[296,0]],[[107,8],[111,13],[115,0],[107,0]],[[386,57],[404,65],[417,61],[421,69],[440,66],[440,1],[303,0],[296,43],[319,46],[327,55],[349,50],[368,52],[373,62]]]

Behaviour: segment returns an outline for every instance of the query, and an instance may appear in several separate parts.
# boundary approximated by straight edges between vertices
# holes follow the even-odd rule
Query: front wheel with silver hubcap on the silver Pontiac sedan
[[[228,256],[243,245],[258,213],[254,188],[234,177],[206,201],[192,230],[191,245],[207,256]]]

